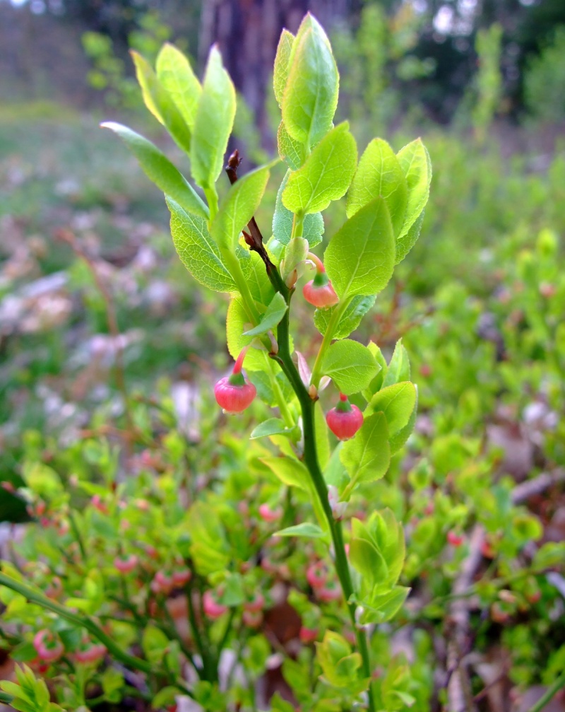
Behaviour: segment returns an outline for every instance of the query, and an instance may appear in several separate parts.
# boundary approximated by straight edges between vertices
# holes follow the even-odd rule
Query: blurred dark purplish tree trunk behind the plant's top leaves
[[[233,83],[243,94],[266,148],[271,148],[265,99],[270,91],[273,61],[283,27],[297,31],[307,11],[326,31],[347,16],[351,0],[204,0],[201,11],[199,64],[217,42]]]

